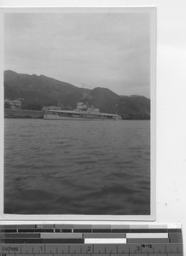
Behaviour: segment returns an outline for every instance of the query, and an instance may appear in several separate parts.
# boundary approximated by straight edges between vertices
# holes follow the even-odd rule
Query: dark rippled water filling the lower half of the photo
[[[149,214],[150,121],[5,119],[4,212]]]

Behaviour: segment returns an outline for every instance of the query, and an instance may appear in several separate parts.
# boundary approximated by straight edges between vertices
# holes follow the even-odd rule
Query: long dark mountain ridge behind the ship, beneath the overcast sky
[[[21,98],[23,108],[32,110],[40,110],[44,106],[73,109],[82,100],[101,112],[118,113],[123,119],[150,118],[150,100],[144,96],[119,96],[101,87],[83,89],[44,75],[11,70],[4,72],[4,98]]]

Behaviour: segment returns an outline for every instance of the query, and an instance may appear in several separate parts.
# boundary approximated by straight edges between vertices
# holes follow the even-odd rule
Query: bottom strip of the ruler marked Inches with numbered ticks
[[[3,245],[0,255],[68,255],[68,256],[181,256],[183,255],[182,244],[24,244]]]

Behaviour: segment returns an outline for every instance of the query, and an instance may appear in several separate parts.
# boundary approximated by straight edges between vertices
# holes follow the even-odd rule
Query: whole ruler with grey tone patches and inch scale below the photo
[[[0,256],[183,256],[181,226],[0,225]]]

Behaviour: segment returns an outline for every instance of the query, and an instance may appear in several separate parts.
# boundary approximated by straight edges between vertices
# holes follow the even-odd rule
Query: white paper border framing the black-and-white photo
[[[1,8],[0,9],[0,52],[3,56],[3,15],[6,13],[61,13],[61,12],[148,12],[150,15],[150,90],[151,90],[151,150],[150,150],[150,215],[49,215],[49,214],[4,214],[3,213],[3,58],[0,60],[0,81],[1,81],[1,114],[0,114],[0,134],[1,134],[1,155],[0,155],[0,220],[30,220],[30,221],[154,221],[156,208],[156,8],[155,7],[32,7],[32,8]]]

